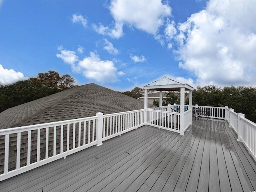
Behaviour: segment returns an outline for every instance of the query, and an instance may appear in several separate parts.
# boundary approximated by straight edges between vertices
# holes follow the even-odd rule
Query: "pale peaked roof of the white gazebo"
[[[184,87],[186,91],[194,89],[188,84],[182,84],[166,76],[144,86],[144,89],[151,89],[156,91],[180,91],[180,88],[182,87]]]

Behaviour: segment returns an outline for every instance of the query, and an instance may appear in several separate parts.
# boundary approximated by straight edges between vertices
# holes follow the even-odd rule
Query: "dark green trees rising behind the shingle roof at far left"
[[[62,90],[74,87],[74,78],[65,74],[62,77],[55,71],[39,73],[38,78],[21,80],[10,85],[0,86],[0,112],[36,100]]]

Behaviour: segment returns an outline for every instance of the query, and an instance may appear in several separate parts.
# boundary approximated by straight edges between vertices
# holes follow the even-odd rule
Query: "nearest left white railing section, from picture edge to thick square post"
[[[96,127],[98,116],[1,129],[0,137],[5,144],[0,181],[101,144]],[[10,153],[14,151],[16,154]]]

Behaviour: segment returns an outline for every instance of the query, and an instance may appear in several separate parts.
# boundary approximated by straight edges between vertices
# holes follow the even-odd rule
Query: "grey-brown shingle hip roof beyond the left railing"
[[[0,113],[0,129],[143,108],[144,102],[92,83],[9,108]]]

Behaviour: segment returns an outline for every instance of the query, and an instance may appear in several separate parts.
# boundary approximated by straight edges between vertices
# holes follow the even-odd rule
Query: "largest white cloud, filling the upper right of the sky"
[[[179,66],[198,84],[256,85],[256,1],[210,0],[168,34],[175,38]]]

